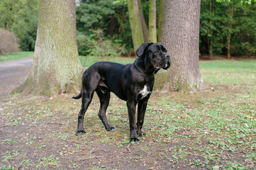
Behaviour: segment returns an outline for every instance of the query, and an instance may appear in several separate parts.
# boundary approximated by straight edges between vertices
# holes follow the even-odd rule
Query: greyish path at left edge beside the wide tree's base
[[[0,101],[21,84],[30,70],[33,58],[0,62]]]

